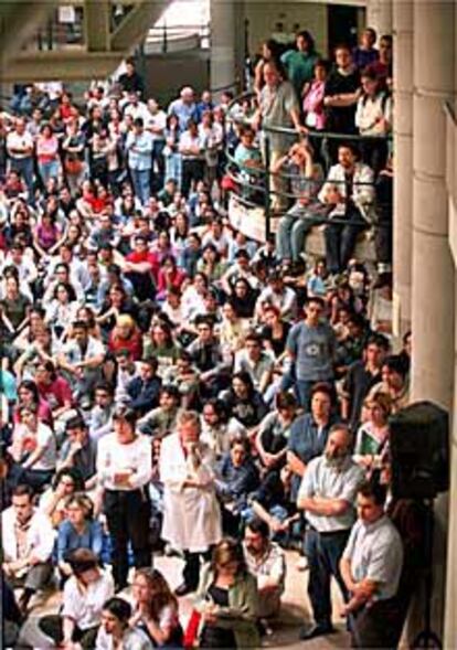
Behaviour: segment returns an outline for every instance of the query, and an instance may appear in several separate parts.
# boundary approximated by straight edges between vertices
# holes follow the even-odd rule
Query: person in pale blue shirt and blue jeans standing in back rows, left
[[[148,203],[151,194],[152,149],[152,135],[145,130],[142,118],[137,117],[134,120],[134,130],[128,134],[126,139],[126,151],[135,195],[144,206]]]

